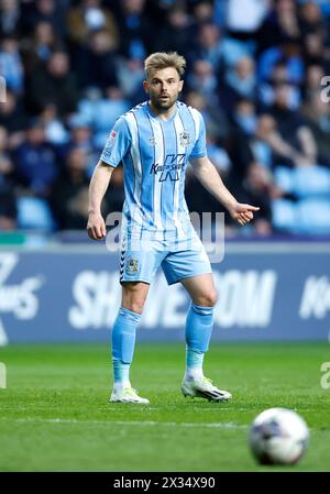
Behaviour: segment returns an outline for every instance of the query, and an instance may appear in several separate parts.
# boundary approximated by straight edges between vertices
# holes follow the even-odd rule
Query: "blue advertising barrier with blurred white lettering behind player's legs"
[[[119,256],[106,249],[0,251],[0,343],[108,341]],[[322,340],[330,332],[330,245],[229,244],[213,264],[215,340]],[[184,340],[189,299],[160,271],[139,340]]]

